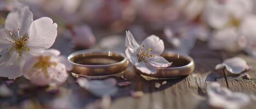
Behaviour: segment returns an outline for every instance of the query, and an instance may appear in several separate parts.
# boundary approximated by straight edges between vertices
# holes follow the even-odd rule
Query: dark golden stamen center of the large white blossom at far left
[[[8,54],[16,51],[17,53],[19,53],[19,56],[21,56],[22,51],[30,50],[28,47],[26,47],[27,39],[29,39],[29,37],[23,37],[22,35],[20,35],[20,29],[18,29],[18,38],[16,38],[11,31],[9,31],[9,33],[12,40],[5,39],[6,41],[12,43],[12,46],[10,48],[5,49],[8,51]]]

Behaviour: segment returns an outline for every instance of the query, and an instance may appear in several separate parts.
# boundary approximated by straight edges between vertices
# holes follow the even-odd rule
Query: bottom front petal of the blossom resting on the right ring
[[[135,64],[136,69],[140,70],[141,72],[144,72],[146,74],[156,74],[157,67],[153,66],[149,63],[145,62],[139,62]]]

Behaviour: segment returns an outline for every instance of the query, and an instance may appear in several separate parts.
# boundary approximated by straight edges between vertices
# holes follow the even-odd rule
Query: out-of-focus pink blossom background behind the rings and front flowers
[[[166,48],[189,54],[197,40],[209,49],[256,56],[253,0],[0,0],[0,23],[9,11],[28,5],[34,20],[58,24],[57,49],[107,47],[124,51],[125,31],[140,43],[151,34]],[[65,51],[66,50],[66,51]]]

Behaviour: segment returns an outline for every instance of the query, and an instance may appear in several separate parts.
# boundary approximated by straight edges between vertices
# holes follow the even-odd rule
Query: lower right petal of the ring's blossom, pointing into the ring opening
[[[162,68],[166,68],[172,65],[172,62],[169,63],[168,60],[164,59],[161,56],[153,57],[148,62],[153,66],[162,67]]]

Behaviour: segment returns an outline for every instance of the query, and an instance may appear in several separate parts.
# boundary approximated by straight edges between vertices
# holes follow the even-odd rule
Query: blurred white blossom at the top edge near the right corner
[[[237,26],[252,11],[251,0],[209,0],[206,3],[204,17],[213,28]]]

